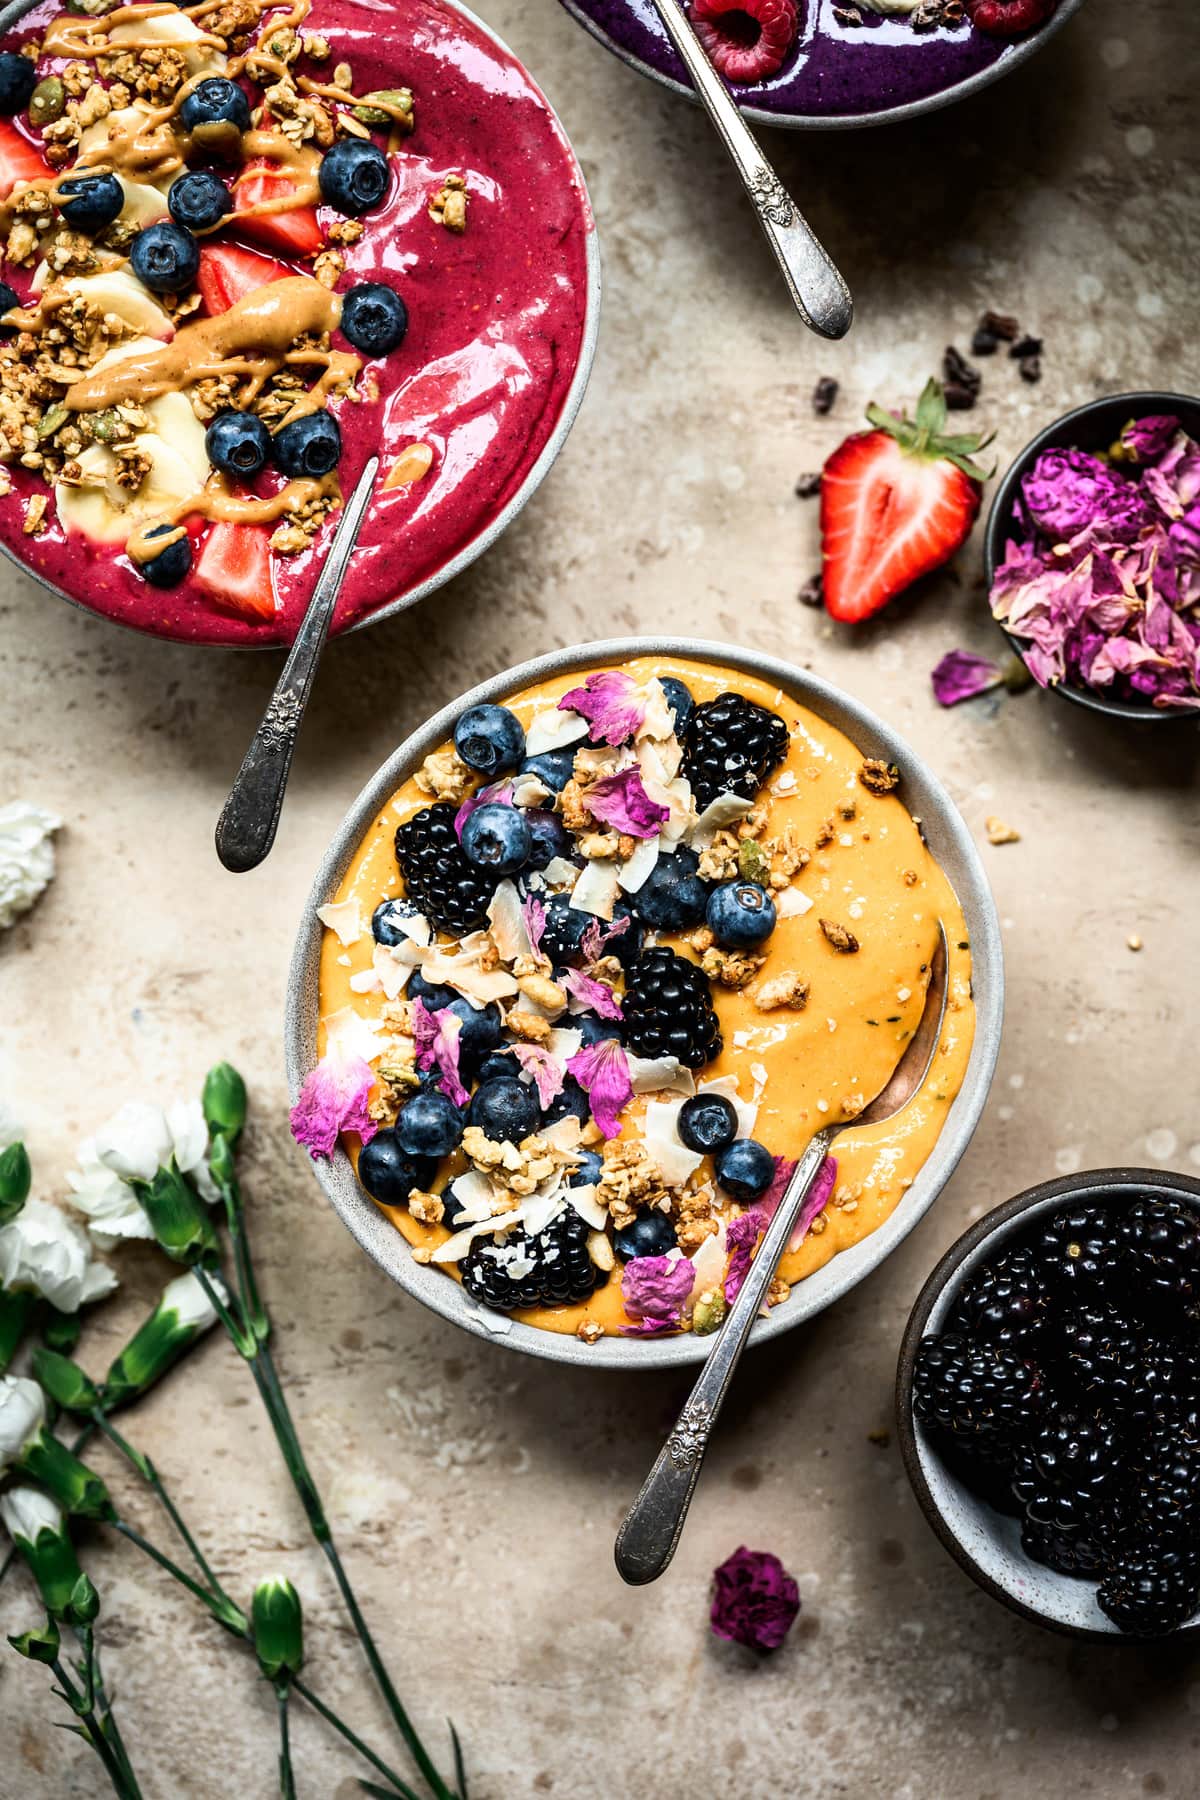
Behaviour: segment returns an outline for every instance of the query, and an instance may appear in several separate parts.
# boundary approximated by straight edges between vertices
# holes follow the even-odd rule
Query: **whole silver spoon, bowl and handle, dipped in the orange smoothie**
[[[945,1012],[946,931],[939,923],[937,947],[930,967],[928,988],[925,990],[925,1010],[918,1028],[891,1080],[865,1112],[858,1114],[853,1121],[855,1125],[882,1125],[883,1120],[892,1118],[912,1098],[937,1051]],[[795,1174],[779,1202],[779,1211],[766,1228],[741,1292],[712,1339],[712,1348],[700,1372],[700,1379],[691,1390],[671,1436],[658,1451],[658,1460],[646,1476],[640,1494],[624,1516],[624,1523],[617,1532],[615,1559],[621,1579],[628,1580],[633,1588],[657,1580],[675,1555],[675,1546],[680,1541],[687,1508],[700,1480],[700,1463],[709,1447],[716,1417],[729,1393],[729,1384],[734,1379],[738,1359],[745,1350],[750,1327],[763,1305],[763,1296],[772,1283],[775,1265],[801,1217],[808,1190],[838,1130],[842,1130],[840,1125],[826,1125],[819,1130],[795,1165]]]

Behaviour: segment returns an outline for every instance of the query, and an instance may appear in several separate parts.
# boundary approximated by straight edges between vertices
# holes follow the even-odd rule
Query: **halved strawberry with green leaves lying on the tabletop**
[[[826,607],[869,619],[919,576],[939,569],[975,524],[988,479],[970,459],[991,439],[943,437],[946,401],[928,382],[916,419],[867,407],[820,473]]]

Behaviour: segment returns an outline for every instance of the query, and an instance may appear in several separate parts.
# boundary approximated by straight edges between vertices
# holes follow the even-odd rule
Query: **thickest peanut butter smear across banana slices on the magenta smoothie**
[[[47,302],[49,299],[50,295]],[[331,365],[336,355],[342,371],[354,364],[353,373],[358,373],[358,358],[344,353],[291,351],[299,337],[333,331],[340,317],[342,301],[336,293],[322,288],[311,275],[286,275],[255,288],[216,319],[184,326],[169,344],[135,351],[108,369],[94,369],[67,389],[63,405],[72,412],[103,412],[106,407],[157,400],[225,374],[248,374],[261,387],[291,356],[327,358]]]

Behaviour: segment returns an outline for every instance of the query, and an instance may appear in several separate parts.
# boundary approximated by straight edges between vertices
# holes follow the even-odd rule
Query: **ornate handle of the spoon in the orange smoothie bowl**
[[[631,1586],[657,1580],[675,1555],[691,1496],[700,1480],[700,1465],[709,1447],[716,1417],[734,1379],[750,1327],[763,1305],[775,1265],[795,1229],[804,1197],[833,1143],[829,1129],[819,1130],[795,1166],[779,1211],[766,1228],[757,1256],[750,1264],[741,1292],[712,1339],[712,1348],[678,1417],[675,1431],[658,1451],[642,1490],[617,1532],[617,1571]]]

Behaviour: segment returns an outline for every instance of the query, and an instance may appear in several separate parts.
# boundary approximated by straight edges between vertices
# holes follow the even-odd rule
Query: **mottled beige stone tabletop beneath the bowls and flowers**
[[[4,796],[67,819],[54,889],[0,945],[0,1089],[54,1193],[124,1098],[193,1091],[221,1055],[245,1069],[254,1233],[302,1435],[399,1688],[439,1746],[446,1712],[462,1730],[473,1800],[1195,1793],[1195,1656],[1076,1647],[1009,1616],[936,1544],[894,1444],[867,1435],[889,1426],[916,1289],[970,1217],[1056,1172],[1200,1168],[1196,734],[1121,733],[1036,693],[939,713],[941,652],[1000,648],[977,547],[878,623],[835,630],[797,605],[817,522],[792,497],[867,400],[912,400],[984,306],[1047,346],[1040,387],[986,365],[977,416],[1000,461],[1090,394],[1195,385],[1191,7],[1090,0],[973,104],[887,133],[775,135],[858,301],[840,347],[790,315],[694,112],[545,0],[484,11],[592,184],[608,292],[576,432],[482,565],[329,652],[279,846],[245,878],[219,871],[210,833],[275,661],[140,641],[0,572]],[[808,403],[822,373],[842,382],[829,421]],[[811,664],[928,756],[981,835],[997,812],[1022,841],[984,844],[1009,1013],[972,1150],[874,1278],[747,1364],[671,1573],[631,1593],[613,1528],[685,1382],[518,1361],[399,1298],[290,1145],[279,1015],[318,851],[410,725],[551,644],[660,628]],[[122,1262],[90,1366],[158,1278],[149,1253]],[[210,1341],[130,1435],[239,1595],[268,1568],[293,1575],[315,1685],[387,1744],[232,1352]],[[160,1530],[139,1494],[130,1508]],[[709,1571],[743,1541],[779,1552],[804,1600],[761,1667],[705,1625]],[[148,1800],[272,1795],[270,1694],[248,1661],[130,1546],[86,1555]],[[4,1629],[31,1616],[9,1582]],[[4,1800],[106,1791],[52,1717],[43,1674],[5,1652]],[[300,1719],[297,1742],[300,1793],[351,1800],[356,1768],[326,1730]]]

